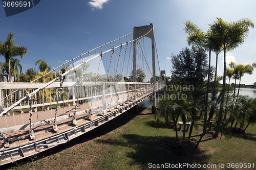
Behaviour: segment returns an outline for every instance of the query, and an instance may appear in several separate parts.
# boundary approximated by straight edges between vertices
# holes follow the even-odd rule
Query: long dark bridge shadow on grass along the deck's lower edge
[[[127,124],[128,122],[130,122],[130,120],[132,120],[134,117],[138,116],[145,109],[146,108],[139,107],[138,112],[133,112],[133,109],[131,108],[130,110],[127,110],[126,112],[124,112],[121,115],[117,116],[116,118],[110,120],[109,122],[106,122],[105,124],[95,128],[81,136],[78,136],[67,143],[57,145],[56,147],[46,150],[44,152],[40,152],[37,155],[33,155],[33,156],[18,160],[13,163],[2,165],[1,168],[10,169],[13,167],[22,166],[28,162],[33,162],[33,161],[39,160],[41,158],[48,157],[53,154],[59,153],[65,149],[73,147],[76,144],[81,144],[86,141],[92,140],[96,137],[105,135],[105,134]]]

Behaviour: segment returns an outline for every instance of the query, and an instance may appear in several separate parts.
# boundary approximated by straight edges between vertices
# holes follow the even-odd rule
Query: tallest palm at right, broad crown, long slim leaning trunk
[[[223,90],[225,90],[226,84],[226,52],[233,50],[234,48],[243,44],[245,38],[249,33],[249,27],[254,28],[254,23],[249,18],[242,18],[237,22],[227,23],[221,18],[217,18],[214,24],[211,25],[212,32],[218,37],[219,42],[222,45],[224,52],[224,71],[223,71]],[[224,103],[224,93],[222,96],[219,117],[217,122],[217,129],[215,136],[219,134],[219,128],[221,124],[222,112]]]

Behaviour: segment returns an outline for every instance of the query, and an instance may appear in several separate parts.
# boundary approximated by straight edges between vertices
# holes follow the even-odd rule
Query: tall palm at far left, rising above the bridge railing
[[[19,46],[19,45],[14,45],[14,34],[8,33],[6,37],[6,41],[4,43],[1,43],[0,45],[0,54],[5,56],[6,62],[8,61],[9,63],[9,82],[11,82],[11,66],[10,66],[10,60],[12,57],[17,57],[20,56],[23,58],[27,52],[28,48],[25,46]]]

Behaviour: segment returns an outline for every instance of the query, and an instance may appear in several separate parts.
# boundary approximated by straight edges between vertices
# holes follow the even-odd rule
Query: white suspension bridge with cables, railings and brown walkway
[[[137,111],[149,96],[154,113],[164,82],[150,24],[31,83],[0,83],[0,165],[68,142],[130,108]]]

